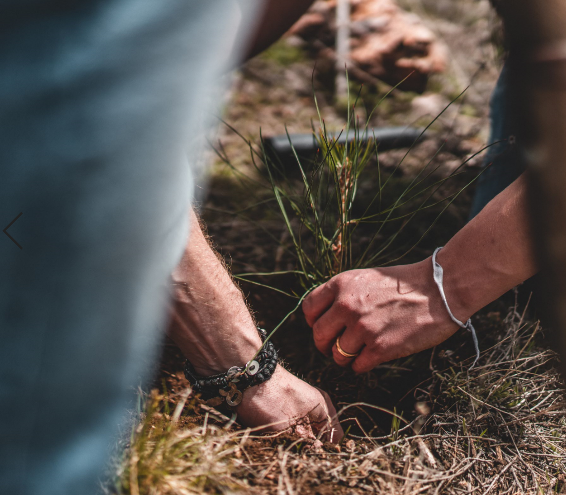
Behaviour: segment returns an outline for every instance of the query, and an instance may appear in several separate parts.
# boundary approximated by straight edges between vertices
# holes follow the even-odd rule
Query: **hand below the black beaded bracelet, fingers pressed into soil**
[[[267,382],[244,392],[236,408],[245,426],[263,426],[264,431],[292,428],[301,437],[337,443],[344,436],[336,409],[326,392],[277,366]]]

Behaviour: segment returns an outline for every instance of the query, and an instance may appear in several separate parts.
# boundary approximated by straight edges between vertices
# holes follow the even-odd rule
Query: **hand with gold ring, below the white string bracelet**
[[[434,347],[458,330],[440,298],[430,258],[342,272],[305,298],[303,313],[319,351],[356,373]],[[359,355],[342,356],[337,338],[344,352]]]

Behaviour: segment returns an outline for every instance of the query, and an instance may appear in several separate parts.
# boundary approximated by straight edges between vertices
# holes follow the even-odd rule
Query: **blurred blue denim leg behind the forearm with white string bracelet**
[[[518,178],[524,170],[520,159],[514,123],[507,103],[508,70],[504,66],[490,101],[490,140],[483,160],[484,170],[477,180],[470,219],[477,215],[487,203]]]

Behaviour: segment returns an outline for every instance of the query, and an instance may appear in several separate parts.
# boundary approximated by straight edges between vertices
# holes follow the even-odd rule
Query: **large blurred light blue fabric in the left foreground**
[[[205,96],[250,14],[0,0],[0,229],[22,212],[23,247],[0,233],[2,495],[96,492],[152,368]]]

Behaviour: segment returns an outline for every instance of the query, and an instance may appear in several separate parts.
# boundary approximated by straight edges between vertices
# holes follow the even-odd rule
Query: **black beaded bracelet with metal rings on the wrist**
[[[258,328],[261,341],[265,342],[267,332]],[[242,402],[243,392],[271,378],[277,366],[277,351],[271,340],[265,342],[254,360],[244,366],[232,366],[228,372],[201,377],[195,372],[194,366],[185,361],[185,377],[192,389],[201,395],[211,407],[225,403],[229,408]]]

